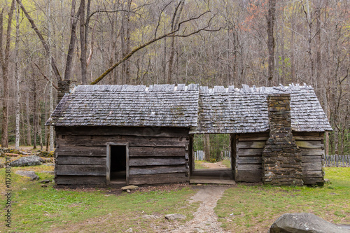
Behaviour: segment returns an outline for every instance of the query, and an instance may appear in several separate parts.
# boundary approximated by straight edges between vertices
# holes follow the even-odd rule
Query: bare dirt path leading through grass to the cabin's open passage
[[[202,186],[197,194],[190,199],[190,203],[202,202],[193,214],[193,220],[170,232],[225,232],[221,228],[221,223],[218,222],[218,216],[216,216],[214,208],[227,188],[227,186]]]

